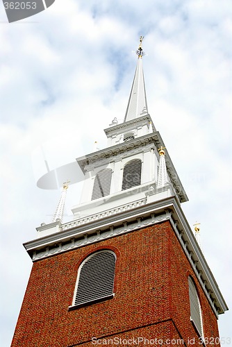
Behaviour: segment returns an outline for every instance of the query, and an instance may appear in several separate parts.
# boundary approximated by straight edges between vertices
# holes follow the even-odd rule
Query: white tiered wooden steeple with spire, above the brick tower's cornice
[[[133,208],[138,202],[146,204],[171,196],[176,196],[179,202],[188,201],[167,150],[164,155],[165,144],[147,112],[142,38],[123,123],[113,119],[104,130],[108,137],[106,149],[76,159],[85,180],[81,204],[72,209],[74,219],[87,214],[99,218],[129,206]]]

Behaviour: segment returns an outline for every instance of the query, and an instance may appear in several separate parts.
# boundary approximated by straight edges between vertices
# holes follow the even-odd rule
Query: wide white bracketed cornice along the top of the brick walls
[[[157,192],[154,196],[157,196]],[[216,316],[224,313],[228,310],[228,307],[188,221],[185,219],[178,198],[169,196],[158,201],[152,201],[151,197],[152,193],[147,193],[147,198],[135,201],[129,208],[123,206],[117,211],[113,210],[112,213],[107,214],[106,211],[106,214],[101,214],[101,216],[95,216],[95,218],[92,216],[92,220],[88,217],[85,220],[80,219],[63,224],[60,226],[60,231],[26,242],[24,247],[33,262],[35,262],[118,235],[124,235],[127,232],[135,232],[135,230],[147,226],[169,221],[213,312]],[[38,230],[40,228],[46,228],[46,226],[41,226]]]

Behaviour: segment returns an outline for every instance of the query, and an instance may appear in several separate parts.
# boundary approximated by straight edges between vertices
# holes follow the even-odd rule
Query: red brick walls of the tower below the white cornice
[[[79,264],[101,248],[117,255],[115,297],[68,311]],[[186,346],[194,338],[192,346],[199,346],[190,322],[189,274],[199,291],[205,336],[217,337],[215,315],[168,221],[35,262],[12,347],[94,346],[92,337],[115,334],[183,338]]]

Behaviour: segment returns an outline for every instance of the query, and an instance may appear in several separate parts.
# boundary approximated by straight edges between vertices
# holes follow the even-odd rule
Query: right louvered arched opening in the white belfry
[[[127,162],[123,169],[122,190],[141,184],[142,161],[134,159]]]

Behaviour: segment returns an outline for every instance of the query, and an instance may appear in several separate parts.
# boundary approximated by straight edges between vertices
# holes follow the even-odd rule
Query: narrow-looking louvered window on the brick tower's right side
[[[202,316],[201,316],[201,305],[199,297],[197,295],[197,289],[194,281],[188,277],[188,287],[190,294],[190,319],[194,323],[201,337],[203,336]]]

